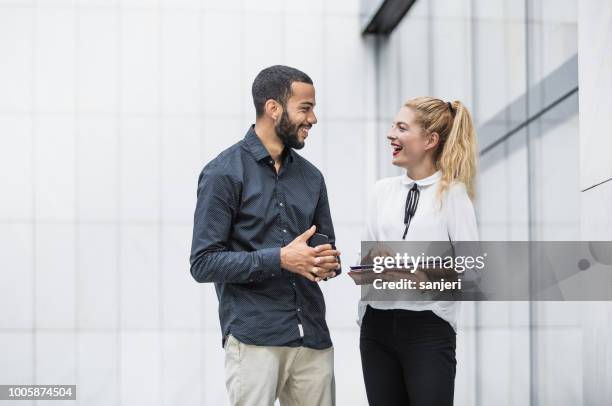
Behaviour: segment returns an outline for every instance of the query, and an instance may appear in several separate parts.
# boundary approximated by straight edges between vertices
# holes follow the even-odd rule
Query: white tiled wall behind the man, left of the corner
[[[189,273],[197,176],[253,122],[259,70],[304,70],[320,123],[304,155],[355,260],[375,162],[358,13],[357,0],[0,0],[0,382],[75,383],[88,406],[227,404],[217,299]],[[358,290],[346,276],[324,290],[338,403],[365,404]]]

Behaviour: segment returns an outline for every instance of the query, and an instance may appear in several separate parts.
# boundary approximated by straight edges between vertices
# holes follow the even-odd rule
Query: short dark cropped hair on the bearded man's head
[[[263,115],[266,101],[270,99],[276,100],[283,107],[286,106],[287,100],[291,97],[293,82],[312,85],[310,76],[289,66],[274,65],[259,72],[251,89],[257,117]]]

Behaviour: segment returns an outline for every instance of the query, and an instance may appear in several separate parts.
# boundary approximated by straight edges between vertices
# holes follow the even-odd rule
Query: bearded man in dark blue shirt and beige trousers
[[[321,172],[298,155],[315,89],[287,66],[253,82],[256,122],[200,174],[191,274],[214,282],[232,405],[335,404],[318,282],[340,272]],[[329,244],[310,247],[319,232]]]

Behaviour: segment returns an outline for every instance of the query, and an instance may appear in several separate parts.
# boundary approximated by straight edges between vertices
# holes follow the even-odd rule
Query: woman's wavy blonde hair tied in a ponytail
[[[428,133],[438,133],[439,143],[434,152],[436,167],[442,172],[438,196],[454,181],[463,182],[471,199],[475,196],[476,131],[472,115],[459,100],[444,102],[433,97],[408,100],[416,122]]]

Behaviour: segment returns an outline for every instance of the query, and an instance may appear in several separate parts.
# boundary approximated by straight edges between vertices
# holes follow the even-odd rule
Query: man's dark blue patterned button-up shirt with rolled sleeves
[[[281,269],[280,247],[312,225],[335,246],[321,172],[285,148],[277,175],[254,126],[200,174],[191,274],[214,282],[222,342],[332,345],[319,285]]]

